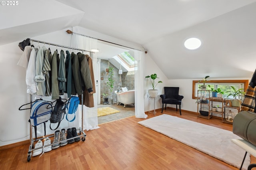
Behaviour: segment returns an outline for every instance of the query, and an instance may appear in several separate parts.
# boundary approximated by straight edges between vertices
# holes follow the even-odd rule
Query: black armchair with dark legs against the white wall
[[[178,111],[177,105],[181,105],[181,100],[184,98],[184,96],[179,95],[179,89],[180,87],[164,87],[164,94],[160,95],[162,98],[162,113],[164,109],[165,104],[165,110],[166,110],[166,104],[176,105],[176,111]],[[181,115],[181,109],[180,109],[180,115]]]

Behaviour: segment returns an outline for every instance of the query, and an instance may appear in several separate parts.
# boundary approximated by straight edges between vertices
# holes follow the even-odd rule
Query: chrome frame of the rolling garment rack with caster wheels
[[[54,46],[58,46],[58,47],[64,47],[64,48],[68,48],[68,49],[75,49],[75,50],[78,50],[78,51],[86,51],[86,52],[90,52],[90,56],[92,57],[93,56],[93,52],[92,51],[87,51],[87,50],[85,50],[85,49],[79,49],[79,48],[74,48],[74,47],[68,47],[68,46],[64,46],[64,45],[58,45],[58,44],[54,44],[54,43],[48,43],[48,42],[43,42],[43,41],[38,41],[38,40],[33,40],[33,39],[30,39],[30,44],[31,44],[31,42],[38,42],[38,43],[44,43],[44,44],[49,44],[49,45],[54,45]],[[64,141],[67,141],[67,140],[70,140],[70,139],[74,139],[74,138],[77,138],[77,137],[81,137],[81,136],[83,136],[82,137],[82,141],[85,141],[85,138],[86,138],[86,134],[85,134],[85,132],[84,132],[84,109],[83,109],[83,103],[84,103],[84,101],[83,101],[83,99],[84,99],[84,97],[83,97],[83,95],[84,95],[84,92],[82,93],[82,127],[81,128],[79,128],[79,129],[77,129],[77,130],[80,130],[80,134],[78,135],[78,136],[75,136],[75,137],[73,137],[73,138],[68,138],[68,139],[66,139],[66,140],[62,140],[62,141],[60,141],[60,142],[64,142]],[[32,95],[30,94],[30,112],[31,112],[31,108],[32,108]],[[67,113],[66,113],[67,114]],[[47,136],[47,137],[52,137],[52,136],[54,136],[54,135],[50,135],[50,136]],[[51,145],[53,145],[53,144],[56,144],[56,143],[60,143],[60,142],[56,142],[56,143],[51,143],[51,144],[48,144],[48,145],[46,145],[46,146],[42,146],[42,147],[39,147],[39,148],[36,148],[36,149],[34,149],[34,141],[36,141],[36,140],[42,140],[42,139],[44,139],[44,138],[46,138],[46,137],[43,137],[43,138],[38,138],[38,139],[33,139],[33,136],[32,136],[32,125],[30,124],[30,146],[29,146],[29,149],[28,149],[28,157],[27,157],[27,161],[28,162],[30,162],[30,159],[31,159],[31,155],[32,155],[32,151],[33,150],[37,150],[37,149],[43,149],[44,150],[44,147],[47,147],[47,146],[51,146]]]

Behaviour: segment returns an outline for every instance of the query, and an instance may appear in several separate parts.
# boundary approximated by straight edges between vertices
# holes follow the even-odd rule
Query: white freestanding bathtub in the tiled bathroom
[[[128,90],[128,91],[119,92],[119,93],[115,91],[115,93],[116,93],[117,105],[120,105],[121,103],[123,103],[125,107],[125,105],[135,103],[135,95],[134,95],[135,90]]]

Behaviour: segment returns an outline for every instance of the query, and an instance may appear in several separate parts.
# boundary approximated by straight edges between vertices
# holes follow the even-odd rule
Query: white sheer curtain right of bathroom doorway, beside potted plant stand
[[[145,52],[134,50],[134,59],[138,62],[135,68],[134,85],[135,85],[135,117],[146,118],[148,115],[144,111],[144,59]]]

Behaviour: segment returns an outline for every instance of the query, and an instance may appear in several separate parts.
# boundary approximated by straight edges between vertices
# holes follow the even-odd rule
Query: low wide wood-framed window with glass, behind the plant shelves
[[[197,91],[199,89],[199,85],[202,85],[203,83],[198,83],[198,80],[193,80],[192,85],[192,99],[196,99],[197,97]],[[222,91],[232,91],[231,85],[236,87],[236,89],[244,89],[246,91],[249,81],[248,80],[210,80],[205,83],[207,86],[206,90],[211,90],[210,87],[214,89],[220,88]],[[210,87],[208,87],[210,85]],[[227,94],[224,93],[223,97],[226,97]],[[232,96],[228,97],[229,99],[232,99]]]

